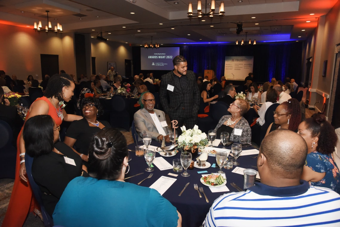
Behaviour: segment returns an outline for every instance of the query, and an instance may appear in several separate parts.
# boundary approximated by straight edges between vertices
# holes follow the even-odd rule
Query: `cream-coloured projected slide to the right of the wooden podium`
[[[226,80],[244,80],[253,72],[254,56],[226,56],[224,76]]]

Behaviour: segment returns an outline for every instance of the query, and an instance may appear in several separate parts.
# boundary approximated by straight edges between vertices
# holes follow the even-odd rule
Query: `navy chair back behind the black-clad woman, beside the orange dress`
[[[45,206],[43,203],[43,198],[41,197],[41,191],[39,186],[35,183],[33,176],[32,176],[32,163],[33,158],[29,156],[28,154],[25,155],[25,166],[26,166],[26,172],[28,176],[28,180],[30,182],[32,191],[34,193],[35,199],[38,201],[40,205],[41,214],[43,215],[44,225],[45,227],[51,227],[53,226],[53,220],[52,217],[47,213],[45,210]]]

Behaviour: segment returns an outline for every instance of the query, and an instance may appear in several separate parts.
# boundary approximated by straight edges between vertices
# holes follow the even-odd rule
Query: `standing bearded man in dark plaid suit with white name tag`
[[[174,69],[162,76],[159,98],[171,120],[177,120],[178,126],[193,128],[200,109],[200,92],[193,71],[188,71],[187,60],[175,56],[172,60]],[[168,103],[167,96],[170,98]]]

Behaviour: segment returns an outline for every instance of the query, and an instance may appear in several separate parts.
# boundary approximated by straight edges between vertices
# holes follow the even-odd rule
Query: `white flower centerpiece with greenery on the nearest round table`
[[[186,129],[185,126],[181,127],[182,134],[177,137],[177,144],[179,148],[188,150],[191,153],[198,151],[198,147],[204,147],[208,144],[207,135],[198,129],[195,125],[193,129]],[[196,152],[197,155],[198,152]]]

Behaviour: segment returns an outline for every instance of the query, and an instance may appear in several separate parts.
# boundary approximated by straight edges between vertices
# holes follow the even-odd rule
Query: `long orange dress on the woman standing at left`
[[[45,96],[38,98],[37,100],[44,100],[48,103],[49,106],[48,115],[50,115],[54,119],[56,125],[61,125],[63,120],[61,119],[61,117],[58,117],[54,105]],[[27,113],[27,116],[29,114],[30,112]],[[29,212],[33,212],[34,208],[40,210],[39,204],[34,198],[30,183],[21,180],[19,176],[20,172],[19,139],[23,127],[24,126],[22,126],[17,139],[17,161],[15,168],[14,187],[11,195],[10,204],[8,205],[5,218],[1,225],[2,227],[22,226]]]

